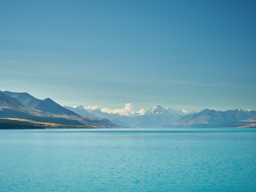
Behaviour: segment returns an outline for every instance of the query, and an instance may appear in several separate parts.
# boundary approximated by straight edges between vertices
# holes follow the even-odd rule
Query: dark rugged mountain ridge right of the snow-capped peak
[[[205,109],[199,113],[190,114],[183,116],[174,123],[167,124],[164,127],[173,127],[173,128],[199,128],[199,127],[234,127],[238,121],[245,120],[256,113],[256,111],[251,111],[246,113],[243,110],[228,110],[228,111],[215,111]],[[248,116],[247,116],[248,115]],[[245,117],[246,116],[246,117]],[[247,119],[248,119],[247,118]],[[232,125],[232,126],[231,126]]]

